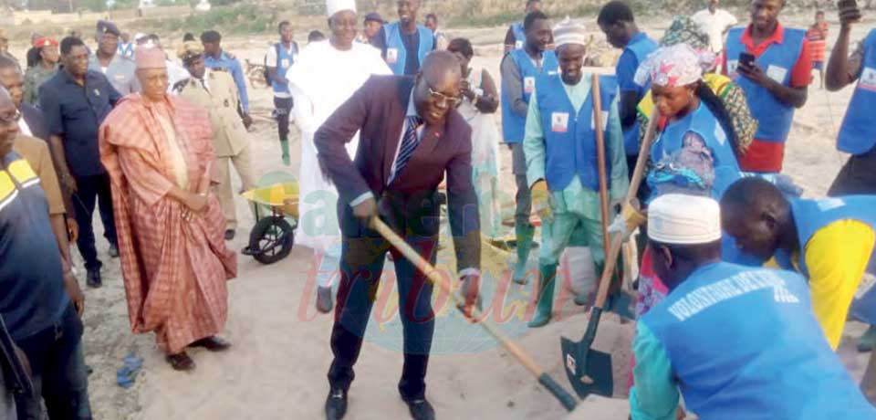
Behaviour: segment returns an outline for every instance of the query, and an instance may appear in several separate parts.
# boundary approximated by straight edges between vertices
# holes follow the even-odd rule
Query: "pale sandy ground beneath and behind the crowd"
[[[802,26],[808,23],[808,16],[789,20]],[[661,21],[645,27],[652,35],[658,35],[668,23]],[[834,34],[838,31],[837,26],[831,29]],[[862,37],[864,31],[864,27],[858,26],[855,38]],[[475,64],[485,66],[498,77],[499,43],[505,28],[450,32],[472,38],[478,55]],[[601,39],[600,34],[594,35]],[[266,41],[267,38],[229,39],[226,48],[242,58],[261,61]],[[267,89],[250,89],[250,97],[254,114],[270,115],[272,104]],[[835,151],[834,141],[849,98],[850,89],[835,94],[810,89],[806,107],[798,111],[788,142],[786,173],[805,186],[808,195],[823,194],[846,159]],[[260,120],[255,124],[252,148],[256,173],[297,173],[297,157],[290,168],[280,163],[276,127],[272,122]],[[297,135],[292,148],[299,150]],[[502,182],[506,193],[513,196],[510,153],[505,150],[503,153]],[[239,200],[237,205],[241,227],[229,246],[239,250],[245,247],[254,222],[245,202]],[[99,226],[99,222],[96,225]],[[85,316],[86,361],[94,369],[89,380],[96,419],[322,418],[322,405],[328,392],[325,374],[331,361],[328,348],[331,318],[318,315],[313,309],[314,264],[307,248],[296,247],[290,257],[273,266],[263,266],[250,257],[239,256],[238,278],[230,283],[229,317],[223,334],[235,343],[234,349],[223,354],[195,350],[191,353],[198,363],[197,370],[176,373],[163,361],[151,334],[130,334],[119,262],[106,257],[105,241],[100,240],[99,247],[107,263],[103,273],[105,286],[86,290]],[[450,254],[447,250],[443,255]],[[507,256],[495,251],[487,255],[500,267],[506,267],[509,261],[505,259]],[[535,266],[533,257],[530,267],[535,269]],[[391,265],[387,268],[391,272]],[[84,273],[84,270],[80,268],[79,272]],[[507,284],[508,276],[506,270],[486,281],[485,295],[494,296],[497,287]],[[508,288],[506,303],[518,305],[514,307],[514,316],[503,322],[502,328],[516,337],[517,343],[530,352],[547,373],[568,387],[558,339],[561,335],[579,339],[587,315],[570,302],[566,293],[560,298],[565,299],[565,304],[557,305],[559,321],[540,330],[527,330],[526,316],[520,313],[520,308],[530,298],[529,289]],[[387,291],[389,297],[384,301],[392,302],[391,289],[383,291]],[[527,371],[505,351],[496,348],[495,342],[484,332],[465,324],[454,310],[443,309],[436,326],[438,351],[432,357],[427,378],[427,394],[440,418],[626,418],[626,401],[620,398],[591,397],[568,415]],[[397,351],[401,341],[400,322],[397,314],[391,316],[391,308],[384,308],[383,313],[372,318],[357,365],[358,379],[349,394],[348,418],[351,420],[408,418],[407,408],[396,391],[401,373],[401,353]],[[614,354],[616,390],[621,397],[633,328],[632,323],[621,324],[615,315],[604,317],[600,326],[597,347]],[[856,378],[860,378],[866,364],[866,355],[859,355],[853,349],[853,337],[860,335],[862,329],[860,324],[850,323],[840,351]],[[142,357],[144,365],[137,383],[130,389],[122,389],[116,384],[115,373],[121,359],[129,353]]]

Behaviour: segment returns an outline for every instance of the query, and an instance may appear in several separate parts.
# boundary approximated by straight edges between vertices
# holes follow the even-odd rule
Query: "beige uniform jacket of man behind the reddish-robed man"
[[[216,157],[236,156],[247,144],[244,122],[237,113],[238,96],[235,79],[224,71],[207,70],[203,76],[207,89],[198,79],[180,80],[173,90],[180,98],[192,102],[210,114],[213,147]]]

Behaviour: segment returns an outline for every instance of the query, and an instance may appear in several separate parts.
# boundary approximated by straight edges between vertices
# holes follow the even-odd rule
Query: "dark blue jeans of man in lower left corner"
[[[25,352],[34,394],[17,394],[19,420],[90,420],[89,378],[82,355],[82,321],[70,304],[54,325],[16,341]]]

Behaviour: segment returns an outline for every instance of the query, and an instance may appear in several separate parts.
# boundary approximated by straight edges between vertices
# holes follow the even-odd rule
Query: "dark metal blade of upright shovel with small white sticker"
[[[614,394],[614,374],[611,355],[590,349],[592,342],[571,341],[563,337],[560,345],[566,365],[568,383],[582,400],[589,394],[611,397]]]

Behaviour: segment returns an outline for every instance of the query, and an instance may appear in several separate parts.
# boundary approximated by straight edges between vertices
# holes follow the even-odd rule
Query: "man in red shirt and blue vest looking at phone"
[[[806,31],[778,22],[785,5],[786,0],[753,0],[751,24],[727,35],[725,74],[745,91],[759,125],[739,160],[746,172],[781,172],[794,110],[806,104],[812,81]]]

